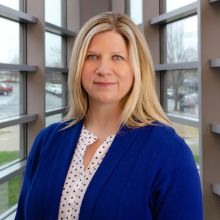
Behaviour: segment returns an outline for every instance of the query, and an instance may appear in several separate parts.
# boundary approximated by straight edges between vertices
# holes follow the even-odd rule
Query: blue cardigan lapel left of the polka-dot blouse
[[[54,220],[58,218],[60,199],[66,175],[72,161],[72,157],[79,139],[83,126],[83,120],[75,126],[66,130],[57,131],[58,138],[50,143],[51,150],[54,153],[51,163],[51,172],[48,177],[48,187],[46,191],[45,211],[48,213],[47,219]],[[60,132],[60,133],[59,133]],[[56,146],[56,147],[55,147]]]

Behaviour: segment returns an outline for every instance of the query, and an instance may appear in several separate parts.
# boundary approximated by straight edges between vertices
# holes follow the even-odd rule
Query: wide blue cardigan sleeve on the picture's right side
[[[198,170],[192,152],[183,140],[178,147],[173,164],[157,181],[154,219],[202,220],[202,192]]]

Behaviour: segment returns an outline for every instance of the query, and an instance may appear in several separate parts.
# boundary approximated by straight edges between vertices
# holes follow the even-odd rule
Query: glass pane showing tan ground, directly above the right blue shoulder
[[[193,152],[197,166],[199,166],[199,129],[188,125],[174,123],[176,132],[185,139]]]

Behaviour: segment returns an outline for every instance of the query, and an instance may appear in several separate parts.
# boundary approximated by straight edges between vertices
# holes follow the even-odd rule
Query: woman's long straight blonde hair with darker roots
[[[65,120],[72,119],[69,126],[86,117],[89,102],[81,83],[81,72],[91,39],[105,31],[115,31],[125,39],[134,73],[133,87],[123,99],[121,124],[142,127],[158,121],[171,125],[156,94],[153,62],[143,35],[128,16],[105,12],[89,19],[74,42],[68,78],[70,105],[65,118]]]

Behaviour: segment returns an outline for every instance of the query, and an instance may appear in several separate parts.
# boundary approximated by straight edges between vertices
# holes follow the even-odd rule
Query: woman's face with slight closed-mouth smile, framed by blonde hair
[[[82,70],[82,85],[89,103],[120,104],[133,81],[123,37],[114,31],[96,34],[89,44]]]

